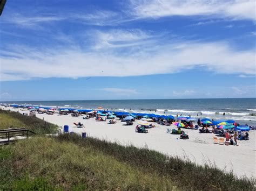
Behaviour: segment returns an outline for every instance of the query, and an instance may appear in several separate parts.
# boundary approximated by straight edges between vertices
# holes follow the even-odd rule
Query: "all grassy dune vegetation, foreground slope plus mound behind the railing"
[[[41,119],[12,112],[0,117],[0,125],[44,126]],[[0,169],[0,190],[254,190],[255,183],[147,148],[69,134],[0,146]]]

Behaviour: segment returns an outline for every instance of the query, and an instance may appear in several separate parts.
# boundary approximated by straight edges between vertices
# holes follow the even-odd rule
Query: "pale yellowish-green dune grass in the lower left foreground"
[[[169,176],[145,172],[92,147],[34,137],[0,147],[0,189],[174,189]]]

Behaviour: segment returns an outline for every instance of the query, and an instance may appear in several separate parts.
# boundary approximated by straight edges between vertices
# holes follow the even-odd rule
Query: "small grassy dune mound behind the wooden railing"
[[[37,135],[56,133],[58,126],[44,122],[34,116],[24,116],[18,112],[0,110],[0,129],[26,128]]]

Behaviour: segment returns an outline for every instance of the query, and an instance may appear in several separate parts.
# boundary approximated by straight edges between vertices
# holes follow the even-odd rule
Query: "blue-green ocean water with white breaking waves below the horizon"
[[[155,114],[191,115],[217,119],[234,119],[256,125],[256,98],[172,99],[172,100],[93,100],[93,101],[27,101],[5,102],[76,109],[149,112]],[[225,112],[225,116],[223,113]],[[197,116],[198,115],[198,116]]]

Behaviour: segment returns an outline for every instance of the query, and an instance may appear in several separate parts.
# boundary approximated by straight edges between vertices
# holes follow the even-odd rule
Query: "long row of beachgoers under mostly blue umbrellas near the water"
[[[95,118],[97,122],[106,122],[107,119],[109,124],[117,123],[115,118],[119,118],[121,122],[126,122],[124,125],[133,125],[135,119],[144,121],[144,122],[152,122],[157,123],[159,125],[171,126],[172,124],[176,125],[178,130],[172,131],[173,133],[177,132],[177,134],[184,134],[184,131],[180,130],[180,128],[184,129],[195,129],[198,130],[199,133],[214,133],[217,136],[225,137],[226,142],[232,144],[233,139],[236,145],[237,140],[248,140],[248,131],[252,128],[240,128],[237,129],[240,125],[232,120],[224,121],[203,118],[196,123],[196,119],[191,118],[191,116],[182,116],[182,114],[178,115],[175,119],[172,115],[157,115],[157,114],[145,114],[145,113],[132,113],[129,112],[117,112],[117,111],[109,111],[102,110],[103,108],[98,108],[97,110],[75,110],[72,108],[48,108],[48,107],[33,107],[32,105],[9,105],[14,108],[22,108],[28,109],[30,112],[38,112],[38,114],[58,114],[61,115],[71,115],[73,117],[78,117],[83,115],[83,119]],[[201,115],[201,114],[200,114]],[[224,126],[223,124],[224,123]],[[139,123],[138,123],[139,124]],[[80,125],[79,125],[80,126]],[[150,123],[140,123],[136,126],[136,132],[146,132],[144,129],[154,128],[156,125]],[[245,125],[246,126],[246,125]],[[208,128],[212,128],[209,130]],[[225,130],[225,131],[224,131]]]

